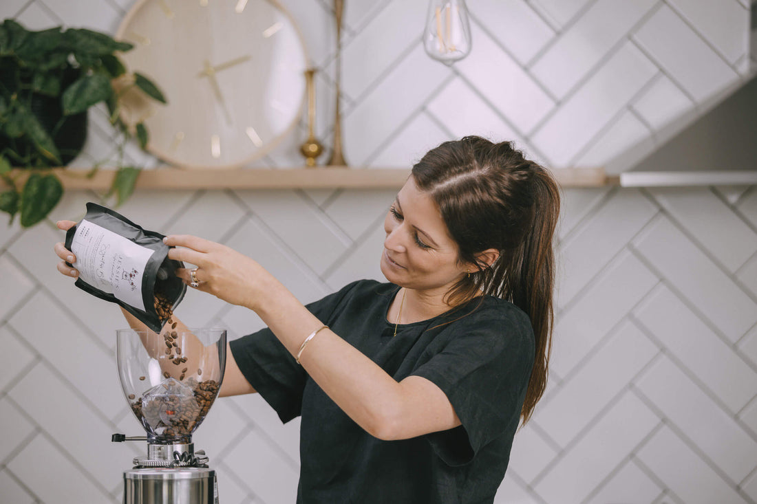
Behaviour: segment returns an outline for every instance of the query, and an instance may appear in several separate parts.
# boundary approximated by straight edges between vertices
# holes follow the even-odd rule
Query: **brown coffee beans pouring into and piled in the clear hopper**
[[[176,341],[178,339],[176,325],[179,322],[173,320],[173,307],[170,300],[161,294],[156,294],[155,310],[160,319],[167,321],[166,325],[170,325],[170,328],[167,328],[163,333],[167,359],[174,366],[181,366],[187,361],[187,358],[182,356],[182,349]],[[145,401],[142,400],[142,397],[134,400],[134,394],[129,395],[129,400],[134,400],[131,406],[139,421],[145,427],[149,427],[151,431],[157,432],[158,437],[163,437],[166,440],[192,434],[195,427],[204,420],[218,395],[219,386],[215,380],[200,381],[190,377],[184,381],[187,370],[187,367],[182,366],[179,381],[192,390],[192,396],[172,394],[173,387],[167,382],[162,384],[166,394],[148,397]],[[165,378],[172,376],[168,371],[165,371],[163,375]],[[198,377],[202,375],[202,369],[197,369],[197,375]],[[145,377],[140,376],[139,379],[144,381]],[[157,418],[160,419],[157,420]],[[149,420],[152,420],[152,422]]]

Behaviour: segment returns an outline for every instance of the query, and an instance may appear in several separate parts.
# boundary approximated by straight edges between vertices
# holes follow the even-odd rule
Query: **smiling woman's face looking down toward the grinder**
[[[412,176],[397,193],[384,230],[381,270],[389,282],[445,294],[466,274],[441,213],[431,197],[419,191]]]

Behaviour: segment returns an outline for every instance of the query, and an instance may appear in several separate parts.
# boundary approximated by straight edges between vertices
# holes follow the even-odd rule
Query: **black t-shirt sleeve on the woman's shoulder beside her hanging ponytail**
[[[474,318],[451,327],[447,344],[412,373],[441,388],[462,424],[425,436],[447,465],[466,464],[491,441],[515,434],[534,363],[525,313],[512,307]]]

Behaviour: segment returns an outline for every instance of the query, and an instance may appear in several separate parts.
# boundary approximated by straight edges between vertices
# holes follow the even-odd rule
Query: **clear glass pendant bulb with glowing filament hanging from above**
[[[446,65],[465,58],[471,51],[471,27],[465,0],[431,0],[428,5],[423,47]]]

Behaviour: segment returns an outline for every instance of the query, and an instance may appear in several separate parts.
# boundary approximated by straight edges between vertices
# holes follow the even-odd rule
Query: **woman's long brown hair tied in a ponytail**
[[[431,149],[413,166],[412,176],[437,204],[459,260],[478,265],[453,285],[447,302],[463,303],[483,291],[512,302],[531,319],[536,351],[521,410],[525,424],[547,384],[559,188],[547,170],[510,142],[478,136]],[[492,248],[499,257],[490,266],[479,254]]]

